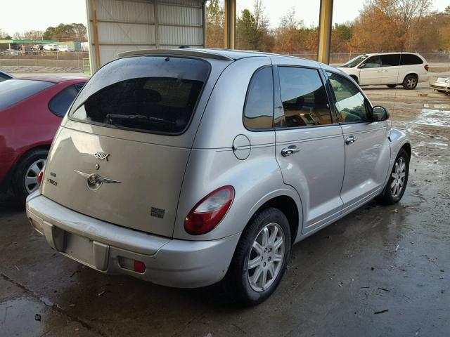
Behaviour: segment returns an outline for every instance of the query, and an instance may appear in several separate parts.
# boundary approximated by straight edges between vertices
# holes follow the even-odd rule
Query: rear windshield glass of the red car
[[[0,82],[0,110],[53,86],[51,82],[8,79]]]

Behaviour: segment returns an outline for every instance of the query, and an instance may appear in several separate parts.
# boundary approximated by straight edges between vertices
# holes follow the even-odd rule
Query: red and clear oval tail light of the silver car
[[[214,190],[191,209],[184,220],[184,229],[191,235],[210,232],[224,218],[233,199],[233,186],[226,185]]]

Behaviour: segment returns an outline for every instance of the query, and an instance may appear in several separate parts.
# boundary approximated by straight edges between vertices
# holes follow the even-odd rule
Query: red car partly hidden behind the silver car
[[[37,175],[75,96],[77,77],[23,77],[0,82],[0,185],[20,203],[37,190]]]

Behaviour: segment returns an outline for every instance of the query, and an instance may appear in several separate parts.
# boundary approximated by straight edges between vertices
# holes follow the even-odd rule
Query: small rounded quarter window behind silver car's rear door
[[[250,81],[244,125],[252,130],[274,127],[274,80],[271,67],[257,70]]]

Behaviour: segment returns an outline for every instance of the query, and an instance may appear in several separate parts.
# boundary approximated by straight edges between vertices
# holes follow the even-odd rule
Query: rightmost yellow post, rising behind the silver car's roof
[[[330,63],[332,24],[333,0],[321,0],[319,14],[319,51],[317,60],[322,63]]]

